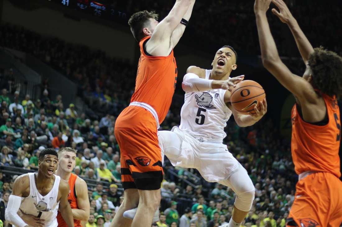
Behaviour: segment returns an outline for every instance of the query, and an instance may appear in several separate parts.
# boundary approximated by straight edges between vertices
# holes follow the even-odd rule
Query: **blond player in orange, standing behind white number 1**
[[[65,182],[69,183],[70,192],[68,202],[74,216],[75,227],[85,227],[89,219],[89,198],[87,183],[74,173],[71,173],[76,165],[76,153],[73,148],[66,147],[58,151],[58,167],[56,175],[60,176]],[[66,223],[58,212],[58,227],[66,227]]]

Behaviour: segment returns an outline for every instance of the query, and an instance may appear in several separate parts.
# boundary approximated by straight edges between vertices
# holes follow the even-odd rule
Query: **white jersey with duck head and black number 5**
[[[209,79],[210,72],[211,70],[206,70],[206,79]],[[232,115],[232,111],[224,103],[225,92],[223,89],[213,89],[185,93],[179,129],[200,142],[222,143],[226,137],[224,127]]]

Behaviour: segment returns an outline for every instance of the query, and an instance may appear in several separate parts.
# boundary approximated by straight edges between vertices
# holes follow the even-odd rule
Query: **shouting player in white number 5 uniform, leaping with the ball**
[[[244,79],[229,77],[237,68],[236,58],[233,47],[223,46],[215,54],[212,70],[190,66],[182,83],[186,93],[181,124],[171,131],[159,131],[158,136],[162,158],[165,154],[174,166],[196,168],[205,180],[235,192],[233,216],[222,227],[240,226],[254,200],[254,186],[246,169],[222,143],[224,127],[232,114],[240,127],[253,125],[267,109],[266,100],[260,103],[260,111],[254,107],[255,114],[241,115],[231,106],[229,90]]]

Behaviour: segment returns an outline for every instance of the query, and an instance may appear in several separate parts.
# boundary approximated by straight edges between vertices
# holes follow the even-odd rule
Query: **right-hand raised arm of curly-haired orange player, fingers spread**
[[[294,19],[285,2],[283,0],[272,0],[272,2],[279,9],[279,12],[276,9],[272,9],[272,13],[277,15],[282,22],[289,26],[304,63],[307,64],[310,54],[314,52],[314,48],[304,35],[302,29],[300,29],[297,20]]]

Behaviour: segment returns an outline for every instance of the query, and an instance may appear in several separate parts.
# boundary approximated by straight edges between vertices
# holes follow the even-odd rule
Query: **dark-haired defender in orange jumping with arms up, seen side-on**
[[[148,11],[137,12],[129,19],[141,56],[130,106],[115,123],[125,191],[111,227],[151,226],[159,206],[163,168],[157,128],[167,115],[176,84],[173,48],[183,35],[194,3],[195,0],[176,0],[160,22],[157,14]],[[133,221],[123,217],[124,211],[137,206]]]

